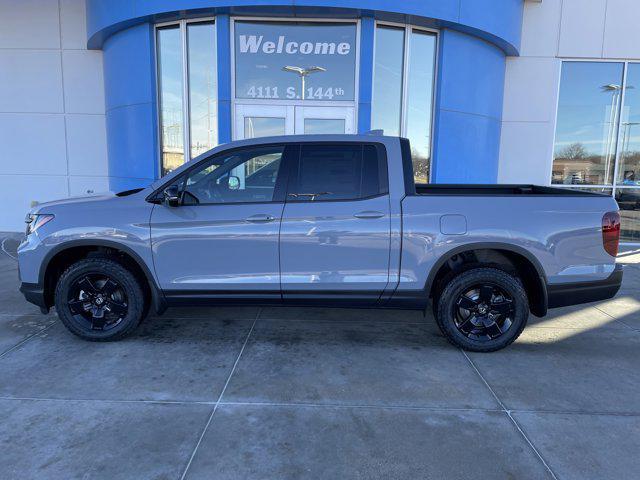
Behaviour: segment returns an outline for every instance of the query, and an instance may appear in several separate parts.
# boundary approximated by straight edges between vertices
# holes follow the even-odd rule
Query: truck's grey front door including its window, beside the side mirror
[[[156,205],[154,264],[167,295],[258,295],[280,299],[278,233],[289,147],[222,152],[174,183],[182,204]]]

